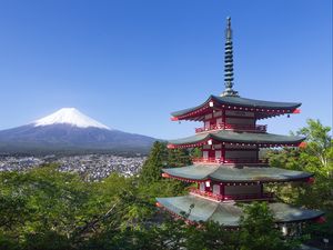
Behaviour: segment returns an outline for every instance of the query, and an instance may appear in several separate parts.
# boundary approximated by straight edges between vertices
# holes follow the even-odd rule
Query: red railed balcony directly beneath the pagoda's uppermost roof
[[[268,126],[266,124],[252,126],[252,124],[218,123],[218,124],[211,124],[210,127],[196,128],[195,133],[201,133],[201,132],[212,131],[212,130],[220,130],[220,129],[264,133],[268,131]]]

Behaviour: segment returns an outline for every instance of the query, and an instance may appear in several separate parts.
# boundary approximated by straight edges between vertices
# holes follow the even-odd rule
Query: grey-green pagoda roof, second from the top
[[[169,140],[169,143],[178,146],[195,146],[204,143],[208,140],[215,140],[219,142],[235,142],[235,143],[255,143],[255,144],[299,144],[305,138],[295,136],[281,136],[273,133],[250,133],[250,132],[235,132],[230,130],[220,130],[213,132],[198,133],[191,137]]]

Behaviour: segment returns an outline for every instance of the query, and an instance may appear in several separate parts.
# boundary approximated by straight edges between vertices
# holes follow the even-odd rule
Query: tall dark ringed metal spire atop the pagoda
[[[232,51],[232,30],[231,30],[230,17],[226,18],[226,29],[225,29],[224,86],[225,86],[225,90],[221,93],[221,97],[239,97],[239,92],[232,89],[233,51]]]

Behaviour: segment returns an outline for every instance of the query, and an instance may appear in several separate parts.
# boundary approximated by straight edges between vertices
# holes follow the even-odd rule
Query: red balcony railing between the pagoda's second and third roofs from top
[[[266,164],[268,160],[256,158],[228,158],[223,160],[222,158],[192,158],[193,163],[219,163],[219,164],[236,164],[236,163],[246,163],[246,164]]]

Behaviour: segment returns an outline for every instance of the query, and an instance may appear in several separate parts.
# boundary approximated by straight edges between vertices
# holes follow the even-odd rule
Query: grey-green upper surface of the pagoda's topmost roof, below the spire
[[[260,112],[268,112],[268,111],[273,112],[273,110],[275,111],[285,110],[287,111],[285,113],[293,112],[296,108],[299,108],[302,104],[300,102],[263,101],[263,100],[248,99],[241,97],[230,97],[230,96],[219,97],[219,96],[211,94],[209,99],[202,104],[172,112],[171,116],[178,119],[186,119],[188,116],[191,114],[192,112],[209,108],[210,107],[209,103],[211,101],[216,107],[219,106],[241,107],[241,108],[248,108],[250,110],[253,109],[254,111],[260,111]],[[256,110],[256,109],[261,109],[261,110]],[[271,116],[276,116],[276,114],[271,113],[271,114],[263,116],[262,118],[271,117]]]

